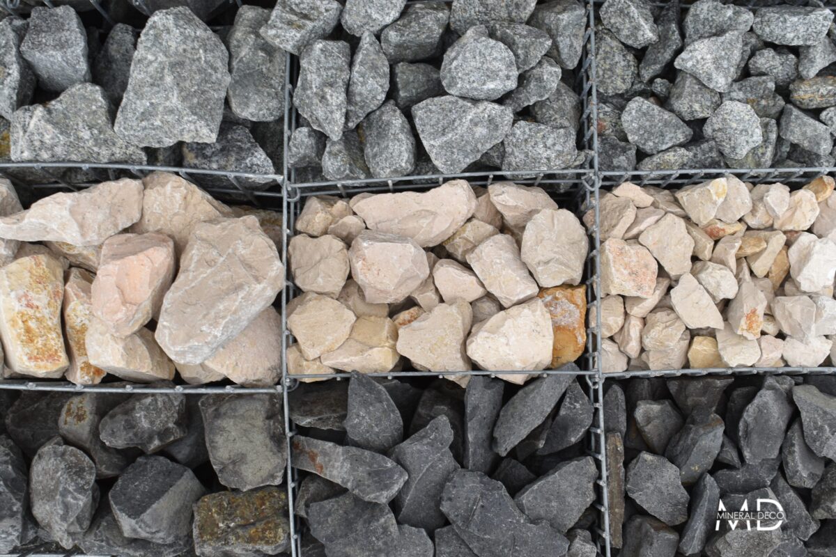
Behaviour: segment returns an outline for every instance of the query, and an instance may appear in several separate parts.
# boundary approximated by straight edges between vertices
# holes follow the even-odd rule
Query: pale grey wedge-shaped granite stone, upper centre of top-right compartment
[[[737,76],[743,48],[742,33],[730,32],[717,37],[701,38],[686,46],[676,57],[674,66],[691,73],[703,84],[723,93]]]

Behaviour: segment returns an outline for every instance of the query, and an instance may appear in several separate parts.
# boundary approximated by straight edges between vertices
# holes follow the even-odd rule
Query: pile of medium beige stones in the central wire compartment
[[[587,235],[541,188],[318,195],[295,229],[291,374],[537,372],[584,352]]]

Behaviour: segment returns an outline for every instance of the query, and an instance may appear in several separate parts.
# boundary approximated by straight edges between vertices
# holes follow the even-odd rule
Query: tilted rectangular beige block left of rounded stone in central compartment
[[[537,282],[528,274],[513,238],[506,234],[491,236],[467,256],[487,291],[504,307],[537,296]]]

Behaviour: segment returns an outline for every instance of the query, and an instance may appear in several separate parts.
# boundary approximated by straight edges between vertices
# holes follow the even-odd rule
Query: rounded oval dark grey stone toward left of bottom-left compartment
[[[99,504],[96,467],[78,448],[48,445],[32,459],[29,499],[32,514],[64,549],[90,525]]]

